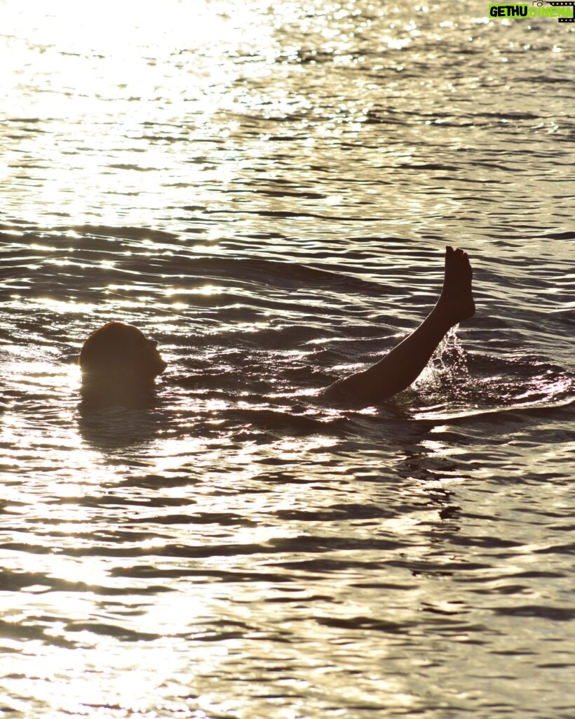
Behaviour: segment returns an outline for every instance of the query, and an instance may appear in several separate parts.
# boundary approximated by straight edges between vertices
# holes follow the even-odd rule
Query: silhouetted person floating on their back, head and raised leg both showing
[[[446,247],[443,289],[429,316],[372,367],[336,380],[324,390],[330,402],[370,406],[408,388],[421,374],[449,329],[475,313],[467,252]],[[108,322],[90,334],[80,352],[85,403],[144,406],[154,380],[167,367],[158,343],[123,322]]]

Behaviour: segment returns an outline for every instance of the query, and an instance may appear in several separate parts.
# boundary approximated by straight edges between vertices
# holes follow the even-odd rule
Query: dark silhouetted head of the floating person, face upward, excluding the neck
[[[131,324],[108,322],[90,334],[80,352],[83,385],[153,385],[167,367],[157,344]]]

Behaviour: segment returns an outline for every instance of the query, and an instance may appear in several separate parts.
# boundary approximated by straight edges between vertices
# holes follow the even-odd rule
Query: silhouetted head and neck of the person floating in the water
[[[153,394],[154,380],[167,367],[157,344],[123,322],[108,322],[90,334],[78,358],[85,403],[145,406],[146,397]]]

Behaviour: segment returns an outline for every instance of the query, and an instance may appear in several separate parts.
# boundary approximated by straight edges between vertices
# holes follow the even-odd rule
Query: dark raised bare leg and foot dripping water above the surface
[[[338,403],[366,407],[408,388],[449,329],[475,314],[471,281],[467,252],[446,247],[443,288],[426,319],[383,359],[367,370],[336,380],[324,396]]]

